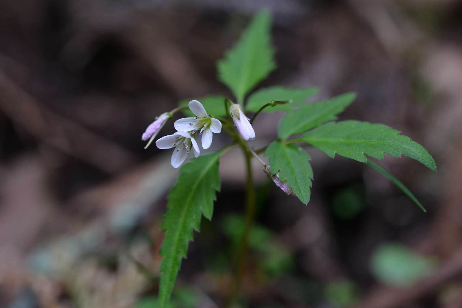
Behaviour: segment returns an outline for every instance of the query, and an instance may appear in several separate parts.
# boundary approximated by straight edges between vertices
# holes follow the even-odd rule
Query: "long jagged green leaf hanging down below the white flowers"
[[[221,152],[215,152],[191,160],[185,164],[175,186],[168,195],[169,203],[162,223],[166,230],[160,255],[159,304],[166,307],[180,270],[182,258],[186,258],[188,242],[193,230],[199,231],[202,214],[212,218],[215,191],[220,190],[218,162]]]

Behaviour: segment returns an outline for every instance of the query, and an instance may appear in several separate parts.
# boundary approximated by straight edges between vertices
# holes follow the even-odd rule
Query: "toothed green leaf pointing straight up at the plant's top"
[[[271,15],[258,13],[241,39],[218,62],[219,79],[243,103],[245,95],[276,68],[271,46]]]

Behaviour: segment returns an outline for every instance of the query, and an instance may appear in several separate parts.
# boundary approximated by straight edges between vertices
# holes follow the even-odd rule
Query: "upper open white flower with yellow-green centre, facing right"
[[[202,147],[208,149],[212,144],[213,133],[221,133],[221,122],[207,114],[204,106],[196,100],[189,102],[189,109],[195,118],[182,118],[175,121],[175,129],[180,132],[195,134],[198,130],[202,135]]]

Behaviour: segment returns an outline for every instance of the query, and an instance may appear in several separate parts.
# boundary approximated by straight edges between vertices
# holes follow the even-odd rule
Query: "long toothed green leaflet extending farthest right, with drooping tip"
[[[401,157],[404,154],[427,168],[436,170],[433,157],[423,146],[383,124],[360,121],[329,122],[305,133],[300,140],[315,146],[334,158],[335,153],[365,163],[366,155],[383,160],[383,153]]]

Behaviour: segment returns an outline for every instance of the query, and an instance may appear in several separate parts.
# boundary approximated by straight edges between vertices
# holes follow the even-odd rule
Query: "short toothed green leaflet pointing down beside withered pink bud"
[[[311,179],[313,179],[313,169],[309,162],[311,158],[308,153],[301,147],[273,141],[268,145],[265,156],[269,157],[271,174],[279,172],[280,181],[286,181],[298,199],[308,204]]]

